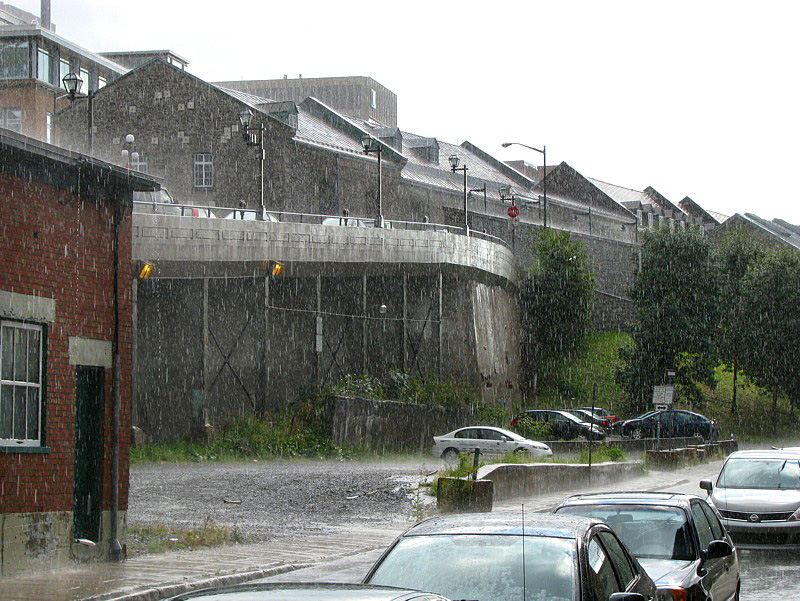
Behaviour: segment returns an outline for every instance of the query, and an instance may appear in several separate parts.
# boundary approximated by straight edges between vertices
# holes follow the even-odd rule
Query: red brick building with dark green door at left
[[[0,577],[123,552],[131,198],[157,188],[0,130]]]

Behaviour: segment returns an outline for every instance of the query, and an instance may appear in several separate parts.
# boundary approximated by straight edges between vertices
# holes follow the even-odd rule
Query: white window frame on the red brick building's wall
[[[12,341],[8,340],[9,331],[14,331],[15,335],[13,340],[17,339],[17,331],[35,331],[39,334],[39,342],[38,342],[38,365],[36,367],[36,381],[31,380],[28,377],[28,374],[25,374],[25,379],[22,380],[15,380],[14,378],[14,371],[15,366],[14,362],[16,361],[16,348],[12,347],[9,350],[9,345],[13,344]],[[45,338],[45,329],[43,325],[33,324],[33,323],[25,323],[19,321],[11,321],[11,320],[0,320],[0,447],[40,447],[42,446],[42,426],[44,423],[44,366],[45,366],[45,357],[44,357],[44,338]],[[26,349],[25,349],[25,360],[30,361],[31,357],[31,348],[29,346],[30,341],[26,342]],[[12,366],[11,369],[8,369],[6,364],[7,361],[7,353],[11,353],[11,362]],[[26,372],[29,371],[26,367]],[[20,407],[17,406],[17,403],[14,400],[17,393],[20,390],[25,391],[25,396],[28,397],[29,395],[33,395],[33,401],[37,405],[38,416],[36,420],[36,431],[37,435],[34,438],[33,434],[28,436],[28,418],[27,418],[27,411],[28,411],[28,403],[25,402],[23,410],[26,412],[26,417],[24,419],[24,428],[25,432],[16,432],[14,431],[14,422],[16,412],[20,410]],[[9,405],[12,410],[12,415],[10,417],[10,424],[11,424],[11,431],[8,432],[4,429],[4,422],[6,419],[9,419],[7,415],[4,415],[5,412],[8,411],[9,406],[7,406],[7,395],[11,395],[11,404]],[[11,436],[9,437],[9,434]]]

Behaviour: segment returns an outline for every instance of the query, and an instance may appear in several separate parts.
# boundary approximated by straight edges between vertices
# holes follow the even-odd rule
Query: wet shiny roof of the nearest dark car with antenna
[[[524,514],[526,536],[575,539],[582,536],[600,520],[578,516],[562,516],[528,512]],[[431,535],[503,535],[523,534],[522,511],[493,511],[491,513],[462,513],[436,516],[409,528],[403,536]]]

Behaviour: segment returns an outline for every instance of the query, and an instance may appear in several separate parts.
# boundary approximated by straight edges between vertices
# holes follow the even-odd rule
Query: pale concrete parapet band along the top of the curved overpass
[[[155,277],[202,277],[285,263],[289,275],[320,265],[358,264],[367,272],[391,266],[450,266],[484,272],[517,286],[521,272],[508,247],[447,231],[342,227],[308,223],[134,214],[133,257],[158,264]]]

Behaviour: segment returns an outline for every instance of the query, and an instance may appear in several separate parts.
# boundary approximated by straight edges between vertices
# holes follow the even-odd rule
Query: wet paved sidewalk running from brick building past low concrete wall
[[[658,490],[719,470],[721,461],[679,471],[655,471],[590,490]],[[699,489],[698,489],[699,490]],[[503,501],[495,509],[546,511],[566,492]],[[398,521],[386,528],[342,529],[331,535],[303,539],[276,539],[254,545],[232,545],[149,555],[122,563],[95,563],[74,570],[60,570],[6,578],[0,581],[2,601],[156,601],[178,593],[220,584],[235,584],[341,560],[388,546],[411,522]]]

